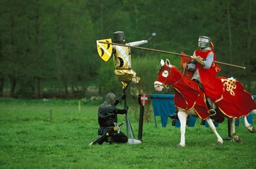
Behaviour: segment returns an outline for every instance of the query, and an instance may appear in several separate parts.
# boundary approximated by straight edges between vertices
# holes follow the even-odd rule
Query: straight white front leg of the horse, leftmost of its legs
[[[180,120],[180,144],[177,146],[185,146],[185,132],[186,132],[186,121],[187,113],[179,109],[178,118]]]

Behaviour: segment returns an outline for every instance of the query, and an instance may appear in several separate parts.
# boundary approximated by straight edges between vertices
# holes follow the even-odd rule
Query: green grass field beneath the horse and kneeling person
[[[98,137],[97,111],[96,104],[81,104],[79,111],[74,100],[1,99],[0,168],[256,168],[256,134],[241,123],[236,130],[243,144],[214,146],[215,135],[197,120],[187,127],[186,147],[179,148],[180,128],[171,120],[155,127],[151,119],[144,123],[143,144],[89,146]],[[129,117],[137,137],[134,113]],[[226,121],[217,130],[227,137]]]

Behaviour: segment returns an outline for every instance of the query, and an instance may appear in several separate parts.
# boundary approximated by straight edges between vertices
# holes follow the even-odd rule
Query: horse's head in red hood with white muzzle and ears
[[[165,62],[161,59],[161,66],[158,71],[158,79],[154,82],[157,91],[162,91],[163,87],[167,87],[168,84],[175,85],[182,79],[182,74],[178,68],[171,65],[168,59]]]

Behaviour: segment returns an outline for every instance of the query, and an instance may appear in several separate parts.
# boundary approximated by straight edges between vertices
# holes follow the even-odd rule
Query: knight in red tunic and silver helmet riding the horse
[[[215,115],[216,105],[214,103],[223,99],[224,92],[221,80],[215,77],[221,68],[214,63],[216,56],[211,38],[199,36],[198,47],[200,49],[194,51],[192,61],[189,64],[183,63],[182,67],[194,71],[192,80],[197,82],[204,91],[210,115]]]

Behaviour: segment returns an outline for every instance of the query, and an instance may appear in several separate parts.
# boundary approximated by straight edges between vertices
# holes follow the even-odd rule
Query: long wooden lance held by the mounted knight
[[[158,49],[150,49],[150,48],[145,48],[145,47],[141,47],[141,46],[129,46],[129,45],[126,45],[126,44],[117,44],[117,43],[101,42],[101,41],[99,41],[99,43],[102,43],[102,44],[112,44],[112,45],[117,45],[117,46],[126,46],[126,47],[130,47],[130,48],[142,49],[142,50],[146,50],[146,51],[156,51],[156,52],[160,52],[160,53],[163,53],[163,54],[172,54],[172,55],[176,55],[176,56],[184,56],[184,57],[187,57],[187,58],[191,58],[192,57],[192,56],[185,55],[185,54],[178,54],[178,53],[175,53],[175,52],[162,51],[162,50],[158,50]],[[233,64],[230,64],[230,63],[223,63],[223,62],[220,62],[220,61],[214,61],[214,63],[219,63],[221,65],[229,65],[229,66],[232,66],[232,67],[235,67],[235,68],[245,69],[245,67],[240,66],[240,65],[233,65]]]

